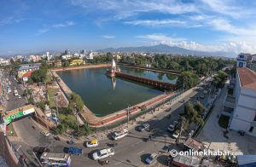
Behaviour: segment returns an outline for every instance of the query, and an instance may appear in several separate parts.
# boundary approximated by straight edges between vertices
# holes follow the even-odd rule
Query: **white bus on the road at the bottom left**
[[[40,161],[42,164],[47,164],[49,166],[70,166],[71,158],[67,153],[47,153],[44,152]]]

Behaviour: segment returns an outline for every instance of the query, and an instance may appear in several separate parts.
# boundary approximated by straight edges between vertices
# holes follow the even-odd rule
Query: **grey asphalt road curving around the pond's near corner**
[[[18,85],[16,85],[16,87],[18,88]],[[201,94],[202,92],[198,93],[197,91],[194,91],[184,99],[185,101],[194,101],[195,96],[200,96]],[[16,104],[16,107],[24,102],[22,100],[18,101],[20,102]],[[137,132],[137,130],[131,130],[129,135],[117,141],[118,146],[113,147],[115,155],[112,158],[108,158],[111,166],[148,166],[144,164],[144,161],[150,153],[158,153],[160,155],[156,162],[157,164],[152,164],[151,166],[165,165],[166,151],[163,150],[163,147],[170,145],[171,148],[177,149],[177,146],[174,144],[174,139],[172,139],[171,134],[166,131],[166,127],[171,124],[175,118],[177,118],[180,112],[183,111],[183,104],[183,102],[177,102],[177,104],[172,106],[171,112],[161,112],[159,115],[148,120],[148,124],[155,128],[153,132]],[[9,108],[11,108],[11,106],[12,105],[9,105]],[[171,119],[166,117],[170,113],[172,113]],[[41,135],[40,127],[37,126],[37,130],[33,130],[32,125],[37,126],[37,124],[29,118],[23,118],[15,121],[15,130],[24,142],[13,141],[13,143],[17,146],[21,146],[20,150],[22,150],[23,153],[26,153],[27,157],[34,163],[36,161],[32,154],[32,147],[49,147],[49,149],[54,153],[63,153],[65,152],[65,147],[69,147],[67,141],[55,141],[52,136],[46,137]],[[148,137],[148,135],[153,135],[152,141],[143,141],[143,139]],[[72,166],[84,166],[84,164],[88,166],[98,166],[99,164],[91,159],[91,153],[94,153],[96,149],[107,148],[109,143],[113,143],[113,141],[100,141],[100,146],[96,148],[85,148],[83,144],[76,144],[76,147],[83,147],[84,154],[83,156],[72,156]]]

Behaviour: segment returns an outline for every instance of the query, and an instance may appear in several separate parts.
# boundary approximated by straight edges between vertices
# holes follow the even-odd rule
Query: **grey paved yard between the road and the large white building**
[[[224,137],[225,129],[218,125],[218,116],[223,107],[224,97],[227,93],[226,86],[222,89],[221,95],[215,102],[210,118],[197,136],[207,147],[213,150],[230,151],[231,153],[256,154],[256,137],[241,136],[236,131],[229,130],[229,139]]]

